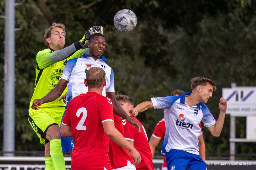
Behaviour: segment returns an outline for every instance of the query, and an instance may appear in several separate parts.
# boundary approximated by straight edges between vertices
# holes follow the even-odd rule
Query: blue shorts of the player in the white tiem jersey
[[[206,170],[206,163],[200,155],[171,149],[165,153],[168,170]]]

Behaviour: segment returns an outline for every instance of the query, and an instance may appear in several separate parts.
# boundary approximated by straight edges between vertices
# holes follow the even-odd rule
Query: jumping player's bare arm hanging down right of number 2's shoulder
[[[140,124],[136,120],[131,119],[131,117],[122,109],[122,107],[120,106],[120,104],[118,103],[118,101],[116,99],[115,92],[106,92],[106,96],[109,97],[112,101],[114,113],[117,114],[118,116],[122,117],[123,119],[125,119],[131,125],[135,126],[138,129],[138,131],[140,132],[140,129],[141,129]]]

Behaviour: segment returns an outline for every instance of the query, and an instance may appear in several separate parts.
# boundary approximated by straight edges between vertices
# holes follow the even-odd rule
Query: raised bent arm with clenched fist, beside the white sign
[[[222,131],[225,114],[227,111],[227,106],[228,106],[227,101],[225,100],[225,98],[221,97],[220,103],[219,103],[219,109],[220,109],[219,118],[213,126],[210,126],[207,128],[215,137],[219,137]]]

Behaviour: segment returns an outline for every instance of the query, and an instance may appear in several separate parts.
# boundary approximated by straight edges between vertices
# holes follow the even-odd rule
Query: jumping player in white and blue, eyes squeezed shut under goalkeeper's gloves
[[[122,107],[116,100],[114,91],[114,73],[112,68],[104,62],[106,61],[106,58],[102,56],[105,50],[105,44],[106,39],[102,34],[93,34],[87,45],[89,48],[89,54],[83,54],[81,58],[75,58],[74,60],[70,59],[63,70],[59,83],[46,96],[37,101],[37,106],[42,103],[48,103],[56,100],[68,86],[66,101],[67,108],[68,103],[72,98],[79,94],[88,92],[88,88],[84,86],[84,79],[86,78],[85,72],[92,67],[100,67],[106,73],[106,86],[103,89],[102,95],[111,99],[114,113],[123,117],[123,119],[128,119],[130,124],[136,126],[136,128],[140,130],[140,125],[134,121],[134,119],[131,119],[125,111],[123,111]],[[72,138],[61,137],[61,145],[63,151],[71,152],[73,149]]]

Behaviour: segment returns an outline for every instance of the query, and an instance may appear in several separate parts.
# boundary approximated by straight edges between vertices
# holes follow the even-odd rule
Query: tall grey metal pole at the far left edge
[[[5,0],[3,152],[15,151],[15,0]]]

